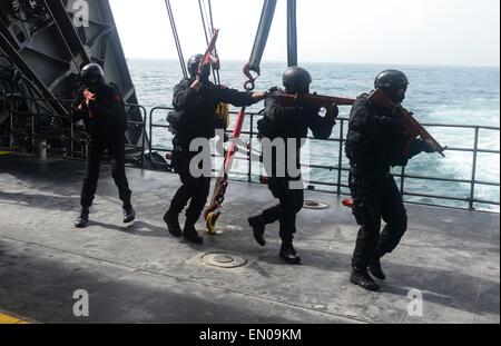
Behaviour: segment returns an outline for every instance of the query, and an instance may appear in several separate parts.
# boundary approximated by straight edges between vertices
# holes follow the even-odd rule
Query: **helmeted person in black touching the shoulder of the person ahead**
[[[190,151],[194,140],[209,140],[216,136],[216,108],[219,103],[236,107],[252,106],[264,99],[262,92],[240,92],[209,81],[210,65],[200,66],[202,55],[193,56],[187,63],[189,78],[183,79],[174,88],[173,106],[169,122],[175,134],[173,144],[173,168],[179,175],[181,186],[174,196],[170,207],[164,216],[167,229],[174,237],[184,237],[187,241],[203,244],[195,228],[200,218],[210,191],[210,176],[196,176],[190,169],[191,160],[199,157],[200,151]],[[212,162],[212,157],[200,164]],[[208,165],[208,164],[207,164]],[[203,169],[204,167],[199,167]],[[210,164],[212,168],[212,164]],[[179,215],[186,210],[185,227],[179,225]]]

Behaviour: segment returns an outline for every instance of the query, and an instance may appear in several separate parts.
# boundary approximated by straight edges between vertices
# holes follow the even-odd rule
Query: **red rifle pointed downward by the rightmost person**
[[[370,95],[369,100],[374,105],[391,110],[395,109],[395,107],[397,106],[381,89],[374,90]],[[430,135],[430,132],[428,132],[426,129],[405,108],[402,108],[401,120],[402,126],[404,127],[405,131],[409,134],[410,137],[404,148],[403,152],[404,155],[409,155],[411,152],[412,144],[418,137],[421,137],[422,139],[428,141],[436,152],[445,157],[443,152],[445,151],[446,148],[442,147],[439,144],[439,141],[435,138],[433,138],[433,136]]]

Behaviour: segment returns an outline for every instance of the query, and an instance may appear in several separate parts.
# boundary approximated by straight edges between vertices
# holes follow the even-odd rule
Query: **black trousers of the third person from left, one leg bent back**
[[[296,215],[303,209],[304,204],[304,190],[291,189],[291,182],[288,178],[268,178],[268,188],[279,204],[262,214],[266,225],[281,223],[281,238],[284,244],[293,243],[296,233]]]

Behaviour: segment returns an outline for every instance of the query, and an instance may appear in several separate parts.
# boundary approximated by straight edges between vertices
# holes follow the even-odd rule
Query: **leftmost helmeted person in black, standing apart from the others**
[[[81,190],[81,211],[76,221],[77,228],[86,227],[95,199],[99,169],[106,150],[111,158],[111,171],[118,187],[124,207],[124,223],[136,218],[130,202],[131,191],[126,177],[125,131],[127,119],[122,97],[118,87],[105,81],[105,72],[97,63],[86,65],[80,72],[81,88],[77,92],[72,122],[84,120],[89,138],[87,141],[87,161]]]

